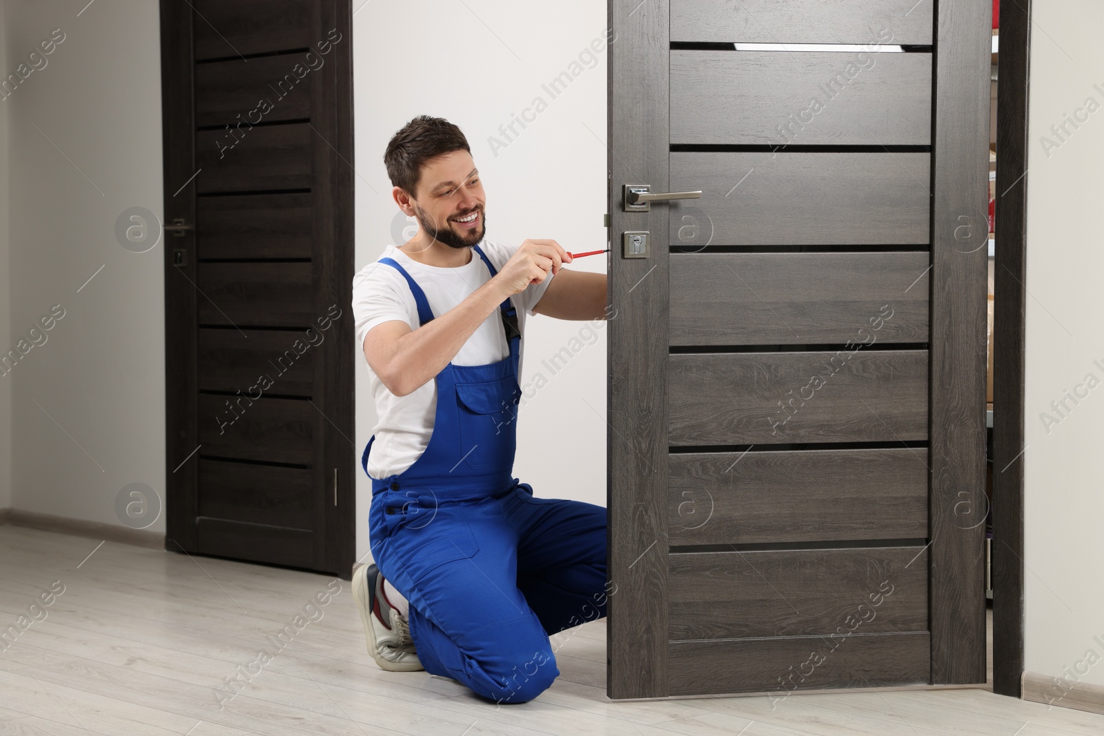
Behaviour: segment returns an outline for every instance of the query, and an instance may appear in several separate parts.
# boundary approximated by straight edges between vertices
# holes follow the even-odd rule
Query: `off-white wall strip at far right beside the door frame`
[[[1036,2],[1031,29],[1025,462],[1026,668],[1104,685],[1104,4]],[[1087,98],[1101,107],[1058,138]],[[1085,113],[1081,114],[1085,117]],[[1044,145],[1047,136],[1058,145]],[[1064,139],[1064,142],[1063,142]],[[998,212],[999,216],[999,212]],[[998,263],[1000,243],[997,243]],[[1000,299],[1000,295],[996,296]],[[1098,361],[1100,363],[1096,363]],[[999,376],[998,376],[999,381]],[[1095,385],[1095,384],[1094,384]],[[1061,407],[1060,407],[1061,408]],[[1055,422],[1044,422],[1049,413]],[[999,469],[998,469],[999,471]],[[1100,640],[1094,639],[1100,637]],[[1102,661],[1079,666],[1093,650]],[[1069,672],[1065,668],[1070,668]],[[1079,673],[1080,670],[1080,673]],[[1071,678],[1072,681],[1073,678]],[[1062,690],[1055,690],[1055,697]]]

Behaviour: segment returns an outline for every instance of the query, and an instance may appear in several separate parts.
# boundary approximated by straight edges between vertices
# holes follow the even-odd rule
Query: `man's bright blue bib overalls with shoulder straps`
[[[380,263],[406,279],[421,324],[432,320],[410,274],[392,258]],[[376,565],[410,600],[426,671],[523,703],[560,674],[549,636],[606,615],[606,510],[533,498],[512,477],[521,335],[509,299],[499,311],[510,354],[437,374],[429,442],[408,469],[372,478],[369,522]],[[549,461],[556,455],[550,448]]]

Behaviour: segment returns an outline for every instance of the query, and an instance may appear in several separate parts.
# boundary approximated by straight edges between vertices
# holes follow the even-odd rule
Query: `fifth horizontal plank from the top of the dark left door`
[[[200,324],[310,327],[315,313],[314,265],[302,263],[204,263],[198,285]]]

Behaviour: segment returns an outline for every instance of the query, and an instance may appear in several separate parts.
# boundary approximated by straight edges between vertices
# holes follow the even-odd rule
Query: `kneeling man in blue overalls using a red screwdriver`
[[[383,669],[523,703],[560,673],[549,636],[605,616],[606,513],[512,477],[521,335],[530,313],[605,318],[606,277],[563,268],[555,241],[485,239],[455,125],[411,120],[384,163],[418,232],[353,280],[379,415],[362,458],[375,564],[354,570],[353,595]]]

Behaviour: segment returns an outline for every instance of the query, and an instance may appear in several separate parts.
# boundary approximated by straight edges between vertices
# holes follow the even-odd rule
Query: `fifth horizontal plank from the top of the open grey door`
[[[678,354],[669,365],[672,446],[927,439],[925,350]]]

